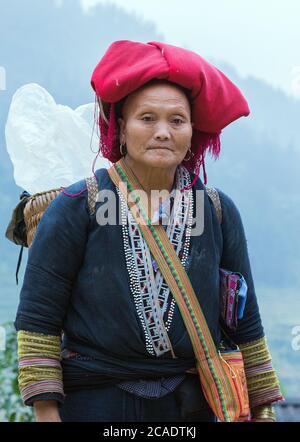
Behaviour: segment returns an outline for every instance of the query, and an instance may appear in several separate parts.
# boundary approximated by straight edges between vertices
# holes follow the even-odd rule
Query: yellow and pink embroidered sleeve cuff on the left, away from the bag
[[[18,331],[18,382],[24,405],[32,405],[33,397],[44,393],[64,400],[60,352],[61,336]]]

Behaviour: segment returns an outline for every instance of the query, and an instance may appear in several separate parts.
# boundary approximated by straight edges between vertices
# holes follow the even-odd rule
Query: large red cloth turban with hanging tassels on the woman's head
[[[207,149],[216,158],[219,156],[222,129],[249,115],[250,110],[239,88],[219,69],[195,52],[166,43],[115,41],[94,69],[91,85],[101,101],[110,104],[109,126],[113,126],[105,127],[100,116],[102,143],[106,141],[104,156],[113,162],[121,156],[112,134],[116,124],[113,103],[154,78],[168,80],[190,92],[193,156],[185,166],[198,175]]]

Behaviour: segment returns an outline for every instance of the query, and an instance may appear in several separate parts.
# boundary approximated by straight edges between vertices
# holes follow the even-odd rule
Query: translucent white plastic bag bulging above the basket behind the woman
[[[36,83],[19,88],[5,127],[16,184],[34,194],[91,176],[99,146],[96,128],[91,143],[93,125],[94,103],[73,110]],[[99,156],[95,169],[109,164]]]

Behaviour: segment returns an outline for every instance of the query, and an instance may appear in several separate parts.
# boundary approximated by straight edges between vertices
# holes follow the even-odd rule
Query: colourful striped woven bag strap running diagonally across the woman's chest
[[[114,164],[108,172],[112,181],[124,194],[128,207],[177,302],[191,338],[203,391],[209,404],[214,405],[213,409],[220,420],[235,420],[238,414],[237,401],[235,409],[235,405],[229,410],[226,407],[226,398],[235,396],[232,384],[222,366],[190,279],[163,226],[151,224],[138,195],[139,183],[123,159]],[[125,183],[125,186],[122,183]],[[130,193],[130,201],[126,191]]]

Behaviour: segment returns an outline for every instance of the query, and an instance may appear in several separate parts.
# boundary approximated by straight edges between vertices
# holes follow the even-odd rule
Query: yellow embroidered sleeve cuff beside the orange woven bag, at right
[[[266,337],[239,347],[244,359],[250,408],[284,400]]]

